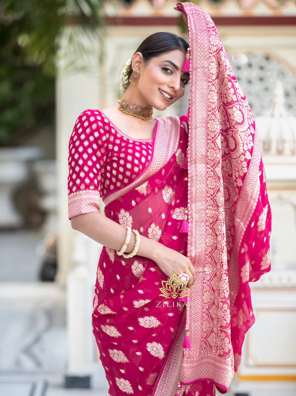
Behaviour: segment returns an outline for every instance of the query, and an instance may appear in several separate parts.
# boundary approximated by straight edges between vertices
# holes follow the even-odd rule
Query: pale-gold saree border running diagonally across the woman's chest
[[[146,168],[130,184],[105,196],[103,202],[106,206],[155,175],[176,152],[180,137],[180,118],[160,117],[156,119],[156,122],[151,158]]]

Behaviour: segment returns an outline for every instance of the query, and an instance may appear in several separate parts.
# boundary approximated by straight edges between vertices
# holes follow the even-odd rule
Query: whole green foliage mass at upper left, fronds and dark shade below
[[[17,144],[18,137],[54,125],[54,77],[62,32],[67,24],[79,23],[101,41],[102,3],[0,2],[0,145]],[[77,51],[77,46],[72,47]],[[83,46],[79,51],[83,53]]]

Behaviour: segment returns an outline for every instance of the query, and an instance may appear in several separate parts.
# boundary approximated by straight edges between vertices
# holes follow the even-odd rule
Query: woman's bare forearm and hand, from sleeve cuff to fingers
[[[99,244],[114,250],[120,250],[126,238],[126,228],[97,212],[83,213],[71,217],[71,226]],[[134,245],[135,234],[132,232],[126,253],[132,251]],[[164,246],[153,239],[141,235],[137,255],[155,261],[169,278],[174,271],[177,275],[183,272],[188,274],[189,282],[187,287],[191,287],[193,282],[195,282],[195,268],[191,261],[178,251],[170,249],[170,247]]]

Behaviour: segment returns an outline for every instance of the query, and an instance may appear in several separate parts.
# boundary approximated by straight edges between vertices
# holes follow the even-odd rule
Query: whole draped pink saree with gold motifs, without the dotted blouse
[[[191,3],[177,8],[189,26],[189,112],[158,119],[147,167],[103,200],[107,217],[187,255],[196,284],[187,304],[173,304],[159,297],[168,277],[154,261],[103,248],[93,327],[112,396],[226,393],[255,321],[249,282],[270,270],[271,212],[251,109],[210,16]]]

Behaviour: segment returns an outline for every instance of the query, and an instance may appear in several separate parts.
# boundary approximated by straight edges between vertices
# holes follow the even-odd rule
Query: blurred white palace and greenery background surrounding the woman
[[[1,396],[108,394],[91,326],[102,246],[67,218],[69,137],[84,109],[116,103],[146,36],[187,39],[175,4],[0,1]],[[296,2],[195,4],[255,117],[273,221],[272,270],[250,284],[256,322],[227,394],[296,395]],[[187,103],[154,114],[181,115]]]

